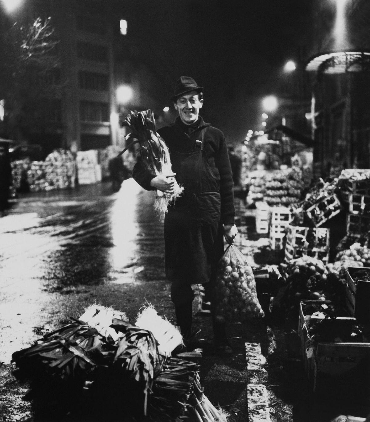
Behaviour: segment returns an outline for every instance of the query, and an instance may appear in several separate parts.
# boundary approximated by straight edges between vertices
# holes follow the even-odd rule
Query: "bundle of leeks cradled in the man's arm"
[[[132,133],[126,136],[130,141],[129,146],[139,144],[137,154],[141,157],[148,169],[156,176],[160,174],[173,174],[170,160],[170,153],[162,137],[156,133],[156,122],[153,111],[131,111],[125,119],[125,123],[131,128]],[[128,147],[129,147],[128,146]],[[127,147],[127,148],[128,148]],[[127,149],[125,148],[121,154]],[[175,179],[174,179],[175,180]],[[175,181],[175,191],[166,194],[156,190],[154,210],[157,214],[165,214],[170,203],[175,201],[178,195],[184,190]]]

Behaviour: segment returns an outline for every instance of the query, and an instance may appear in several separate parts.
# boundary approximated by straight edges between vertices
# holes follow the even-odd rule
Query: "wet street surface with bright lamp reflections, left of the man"
[[[152,202],[129,179],[117,193],[101,183],[12,204],[0,219],[0,361],[95,301],[134,316],[158,295],[170,308]]]

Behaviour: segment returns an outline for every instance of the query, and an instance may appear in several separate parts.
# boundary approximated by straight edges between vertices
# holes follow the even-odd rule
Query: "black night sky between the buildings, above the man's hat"
[[[125,0],[133,32],[145,34],[168,97],[179,76],[204,86],[203,118],[229,142],[260,119],[288,59],[307,59],[312,0]],[[132,22],[131,21],[131,22]],[[129,27],[130,29],[130,27]],[[155,60],[155,58],[157,60]],[[171,106],[171,104],[168,104]]]

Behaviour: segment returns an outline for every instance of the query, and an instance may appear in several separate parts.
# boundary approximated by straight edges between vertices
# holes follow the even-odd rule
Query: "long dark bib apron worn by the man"
[[[174,303],[194,298],[189,287],[210,281],[223,253],[219,181],[203,149],[205,131],[198,148],[170,155],[176,180],[184,186],[164,217],[165,268]]]

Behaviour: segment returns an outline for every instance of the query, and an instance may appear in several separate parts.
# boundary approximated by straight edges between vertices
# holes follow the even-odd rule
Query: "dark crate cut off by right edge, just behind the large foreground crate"
[[[366,305],[366,302],[370,303],[370,297],[367,298],[366,290],[362,289],[361,302],[359,301],[356,309],[356,292],[359,282],[370,284],[370,267],[348,267],[346,272],[345,305],[350,310],[351,315],[359,318],[360,322],[362,322],[362,319],[370,318],[370,306]],[[364,307],[361,308],[362,303],[365,303],[365,309]]]

